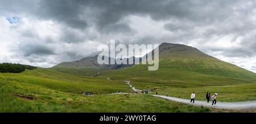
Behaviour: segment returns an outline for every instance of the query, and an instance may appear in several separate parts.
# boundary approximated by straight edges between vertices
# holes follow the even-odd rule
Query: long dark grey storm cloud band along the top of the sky
[[[22,1],[18,2],[23,3]],[[17,4],[13,1],[8,3],[10,5]],[[88,23],[93,23],[90,25],[95,25],[98,30],[104,29],[106,32],[115,32],[130,30],[127,23],[119,24],[117,22],[132,14],[150,15],[154,20],[179,18],[209,24],[229,16],[230,6],[234,5],[235,2],[210,0],[43,0],[34,3],[35,5],[28,4],[28,9],[25,7],[19,7],[19,9],[25,9],[27,13],[32,13],[43,19],[63,22],[73,28],[84,29]]]

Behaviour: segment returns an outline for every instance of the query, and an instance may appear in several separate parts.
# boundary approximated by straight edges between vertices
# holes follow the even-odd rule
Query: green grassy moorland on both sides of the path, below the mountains
[[[109,95],[117,91],[132,93],[124,79],[133,81],[138,89],[156,89],[170,96],[187,98],[190,91],[197,90],[197,98],[204,98],[208,89],[226,89],[219,100],[240,101],[255,100],[255,88],[251,81],[239,78],[221,78],[200,73],[184,73],[159,69],[159,72],[122,69],[115,72],[103,72],[99,77],[69,75],[56,69],[35,69],[23,73],[0,73],[0,111],[15,112],[209,112],[222,111],[196,106],[179,104],[148,95]],[[138,73],[135,73],[136,70]],[[133,73],[131,73],[133,72]],[[168,72],[168,73],[166,73]],[[89,72],[88,72],[89,73]],[[129,74],[129,75],[127,75]],[[130,75],[131,74],[131,75]],[[170,74],[172,77],[170,77]],[[108,81],[106,77],[113,76],[115,80]],[[149,78],[150,76],[151,78]],[[200,77],[201,76],[201,77]],[[159,77],[159,78],[152,78]],[[176,78],[176,80],[174,79]],[[204,78],[202,78],[204,77]],[[184,78],[184,80],[182,79]],[[190,78],[191,80],[185,80]],[[192,81],[193,80],[193,81]],[[215,86],[206,86],[199,80],[215,81]],[[227,80],[227,81],[225,81]],[[191,83],[191,81],[193,83]],[[247,82],[246,82],[247,81]],[[223,84],[223,82],[225,82]],[[246,82],[246,83],[245,83]],[[235,84],[235,85],[234,85]],[[247,84],[247,85],[246,85]],[[200,86],[198,88],[198,86]],[[238,90],[239,92],[234,92]],[[210,90],[212,91],[212,90]],[[244,92],[246,91],[246,92]],[[81,92],[93,92],[95,96],[82,96]],[[229,95],[228,98],[222,97]],[[28,100],[27,97],[35,98]],[[131,109],[132,108],[132,109]]]

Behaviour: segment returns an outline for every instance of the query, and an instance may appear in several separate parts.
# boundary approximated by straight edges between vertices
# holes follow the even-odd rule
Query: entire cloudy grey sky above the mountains
[[[0,1],[0,63],[48,68],[112,39],[185,44],[256,72],[256,1]]]

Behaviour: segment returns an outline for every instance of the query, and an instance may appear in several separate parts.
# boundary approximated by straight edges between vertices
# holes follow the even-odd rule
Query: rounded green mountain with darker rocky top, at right
[[[141,66],[143,65],[136,65],[134,68],[142,68]],[[202,73],[204,75],[256,80],[256,74],[253,72],[240,68],[237,65],[226,63],[199,51],[197,48],[183,44],[160,44],[159,69],[172,69],[173,71],[188,71]]]

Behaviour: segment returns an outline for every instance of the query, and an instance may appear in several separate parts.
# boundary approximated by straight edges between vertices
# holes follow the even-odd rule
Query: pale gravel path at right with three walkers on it
[[[166,96],[160,96],[160,95],[153,95],[155,97],[165,98],[167,100],[175,101],[175,102],[181,102],[183,104],[191,104],[190,100],[184,99],[184,98],[176,98],[176,97],[166,97]],[[233,110],[241,110],[241,109],[256,109],[256,101],[246,101],[246,102],[218,102],[216,106],[212,106],[212,101],[207,103],[207,101],[198,101],[195,100],[196,106],[204,106],[208,108],[216,108],[216,109],[233,109]]]

